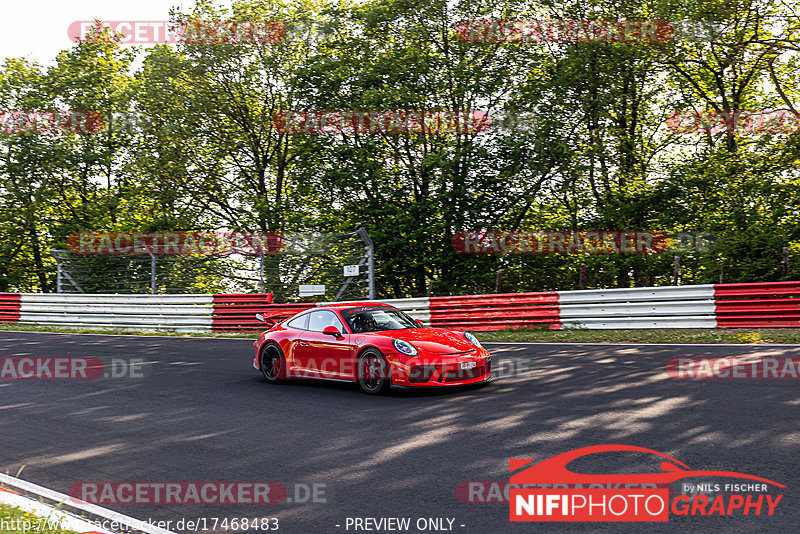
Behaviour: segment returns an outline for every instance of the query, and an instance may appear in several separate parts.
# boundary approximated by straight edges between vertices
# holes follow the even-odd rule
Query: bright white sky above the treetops
[[[56,55],[73,43],[70,23],[79,20],[169,20],[171,7],[188,10],[194,0],[2,0],[0,61],[26,57],[50,65]],[[218,6],[229,1],[215,0]]]

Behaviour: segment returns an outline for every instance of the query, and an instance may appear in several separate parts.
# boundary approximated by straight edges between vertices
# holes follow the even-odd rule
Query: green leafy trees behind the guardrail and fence
[[[464,230],[708,232],[682,283],[796,279],[790,134],[676,133],[675,111],[794,112],[795,3],[198,1],[176,20],[276,20],[263,44],[134,49],[97,29],[47,69],[9,60],[5,110],[95,110],[91,135],[0,133],[0,291],[54,290],[80,230],[367,229],[382,297],[672,282],[673,253],[459,254]],[[668,42],[467,42],[470,19],[716,21]],[[709,26],[710,27],[710,26]],[[488,112],[482,133],[302,135],[288,110]],[[231,272],[235,270],[231,264]],[[185,280],[186,270],[175,280]],[[199,276],[199,275],[198,275]],[[214,287],[214,280],[199,282]]]

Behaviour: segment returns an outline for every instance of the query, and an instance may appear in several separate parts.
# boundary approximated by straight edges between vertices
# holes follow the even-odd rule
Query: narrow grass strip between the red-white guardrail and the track
[[[25,332],[64,332],[72,334],[154,335],[177,337],[228,337],[254,339],[257,332],[178,332],[169,330],[119,330],[101,328],[57,328],[31,324],[0,324],[0,330]],[[478,339],[535,343],[796,343],[800,344],[800,328],[755,329],[642,329],[642,330],[499,330],[475,332]]]

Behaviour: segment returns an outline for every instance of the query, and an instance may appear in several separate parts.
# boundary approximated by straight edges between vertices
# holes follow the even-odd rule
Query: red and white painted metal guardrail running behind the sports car
[[[364,301],[360,301],[364,302]],[[386,299],[426,325],[507,328],[800,327],[800,282],[760,282]],[[181,331],[257,331],[255,314],[327,303],[273,304],[269,293],[87,295],[0,293],[0,322]]]

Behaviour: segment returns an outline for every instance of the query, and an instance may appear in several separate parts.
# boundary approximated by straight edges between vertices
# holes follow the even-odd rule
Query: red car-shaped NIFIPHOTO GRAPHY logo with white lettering
[[[567,469],[579,458],[607,452],[637,452],[660,457],[661,472],[637,474],[582,474]],[[565,452],[534,463],[509,461],[510,521],[669,521],[676,516],[773,515],[783,495],[767,493],[783,484],[733,471],[694,470],[664,453],[634,445],[595,445]],[[669,487],[679,480],[703,477],[703,483],[682,483],[681,494],[671,498]],[[748,483],[709,483],[707,477],[746,479]],[[532,485],[539,487],[530,487]],[[644,487],[656,485],[660,487]],[[636,486],[636,487],[633,487]],[[691,495],[685,492],[691,493]],[[700,491],[719,492],[717,495]]]

